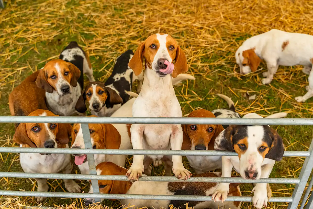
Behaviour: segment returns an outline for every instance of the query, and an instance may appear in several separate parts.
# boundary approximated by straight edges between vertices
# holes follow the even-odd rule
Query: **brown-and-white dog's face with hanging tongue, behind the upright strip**
[[[121,135],[111,124],[89,124],[89,133],[93,149],[119,149]],[[83,132],[80,123],[73,125],[71,148],[85,148]],[[75,164],[81,165],[87,161],[85,154],[73,154]]]

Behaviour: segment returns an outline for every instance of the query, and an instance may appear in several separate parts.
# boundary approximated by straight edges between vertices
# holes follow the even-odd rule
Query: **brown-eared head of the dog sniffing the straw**
[[[243,50],[241,46],[236,51],[235,58],[241,74],[256,71],[261,62],[260,57],[255,54],[254,49]]]

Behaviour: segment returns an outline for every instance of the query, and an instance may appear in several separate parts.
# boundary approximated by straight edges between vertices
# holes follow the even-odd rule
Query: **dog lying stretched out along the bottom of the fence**
[[[97,167],[97,175],[125,175],[127,169],[115,165],[111,162],[100,163]],[[221,173],[212,172],[195,175],[197,177],[220,177]],[[143,195],[212,195],[218,183],[196,183],[196,182],[161,182],[161,181],[111,181],[98,180],[100,193],[102,194],[143,194]],[[228,196],[241,196],[239,184],[231,183]],[[93,193],[90,187],[89,193]],[[179,200],[136,200],[136,199],[122,199],[119,200],[122,205],[135,205],[138,208],[169,208],[173,205],[174,208],[180,208],[187,201]],[[94,199],[85,199],[85,205],[88,206],[94,203]],[[213,201],[188,201],[188,207],[195,209],[199,208],[232,208],[239,209],[241,202],[225,202],[218,204]]]

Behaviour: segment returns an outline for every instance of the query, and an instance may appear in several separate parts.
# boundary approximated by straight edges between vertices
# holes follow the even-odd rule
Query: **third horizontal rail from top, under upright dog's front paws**
[[[23,172],[0,172],[0,177],[7,178],[37,178],[37,179],[80,179],[80,180],[112,180],[127,181],[124,175],[83,175],[83,174],[39,174]],[[218,177],[191,177],[188,180],[179,180],[174,176],[142,176],[139,181],[166,181],[166,182],[229,182],[229,183],[270,183],[270,184],[299,184],[299,179],[293,178],[261,178],[259,180],[243,178]]]

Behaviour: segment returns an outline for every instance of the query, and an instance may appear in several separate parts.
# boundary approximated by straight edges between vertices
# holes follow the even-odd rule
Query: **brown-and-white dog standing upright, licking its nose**
[[[176,41],[167,34],[149,36],[138,46],[128,66],[139,75],[145,58],[145,76],[141,92],[136,98],[133,117],[182,117],[182,110],[172,85],[172,77],[187,72],[187,59]],[[175,64],[172,62],[175,60]],[[170,75],[172,74],[172,76]],[[182,126],[166,124],[132,124],[131,143],[133,149],[182,149]],[[136,181],[144,171],[143,155],[134,155],[133,163],[126,173],[128,180]],[[165,168],[172,167],[181,180],[191,177],[184,168],[182,156],[146,156],[146,159],[165,161]],[[167,159],[165,159],[167,158]],[[150,159],[150,160],[151,160]],[[150,163],[145,163],[149,165]]]

